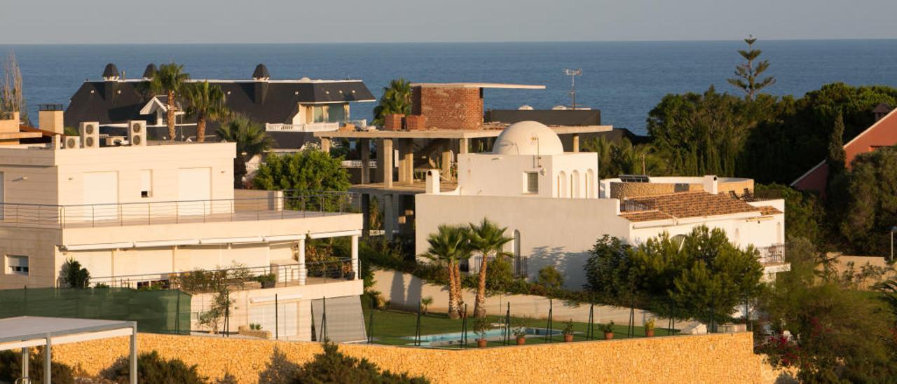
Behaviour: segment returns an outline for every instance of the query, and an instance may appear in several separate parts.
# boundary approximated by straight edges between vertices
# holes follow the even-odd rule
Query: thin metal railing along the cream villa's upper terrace
[[[284,191],[283,196],[95,205],[0,203],[0,225],[83,228],[170,223],[295,219],[345,214],[350,192]]]

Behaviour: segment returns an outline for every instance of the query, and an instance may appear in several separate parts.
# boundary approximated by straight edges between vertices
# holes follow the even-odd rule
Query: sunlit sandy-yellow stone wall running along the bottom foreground
[[[127,352],[127,337],[53,347],[54,360],[97,374]],[[140,334],[140,351],[156,350],[198,364],[220,378],[230,372],[255,383],[274,347],[293,362],[321,351],[317,343],[290,343],[204,336]],[[775,373],[753,353],[751,333],[652,337],[553,345],[437,350],[385,345],[340,345],[383,369],[423,375],[435,383],[762,383]]]

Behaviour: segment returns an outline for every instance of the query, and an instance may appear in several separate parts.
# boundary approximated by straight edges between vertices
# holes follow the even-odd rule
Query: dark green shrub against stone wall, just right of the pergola
[[[130,374],[130,362],[127,357],[120,357],[109,368],[100,372],[100,377],[117,383],[127,383]],[[137,356],[137,377],[146,383],[179,383],[203,384],[208,378],[196,371],[196,364],[187,366],[179,359],[166,360],[159,353],[140,353]]]

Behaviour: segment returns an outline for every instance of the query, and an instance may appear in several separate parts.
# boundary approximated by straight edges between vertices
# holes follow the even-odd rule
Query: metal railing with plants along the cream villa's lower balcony
[[[304,284],[302,284],[300,275],[300,264],[287,264],[160,274],[99,276],[91,277],[91,285],[97,286],[102,284],[112,288],[180,289],[185,292],[214,292],[215,284],[243,288],[270,288],[275,286],[326,284],[356,279],[356,275],[353,274],[352,259],[350,258],[308,262],[305,263],[305,267],[307,275]],[[266,275],[274,275],[274,280],[259,279],[260,276]],[[59,277],[58,284],[59,286],[67,286],[64,277]]]

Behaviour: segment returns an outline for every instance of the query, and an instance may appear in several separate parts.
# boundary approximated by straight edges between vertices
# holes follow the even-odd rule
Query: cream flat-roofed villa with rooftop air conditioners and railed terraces
[[[68,258],[91,284],[134,288],[236,263],[276,283],[235,294],[234,330],[257,323],[310,340],[312,306],[327,298],[328,311],[352,320],[330,337],[364,339],[351,195],[235,190],[235,144],[148,142],[141,120],[128,125],[130,145],[100,146],[97,127],[82,123],[64,143],[0,146],[0,289],[65,286]],[[351,238],[351,259],[307,265],[305,241],[330,237]],[[194,311],[205,296],[194,296]]]

